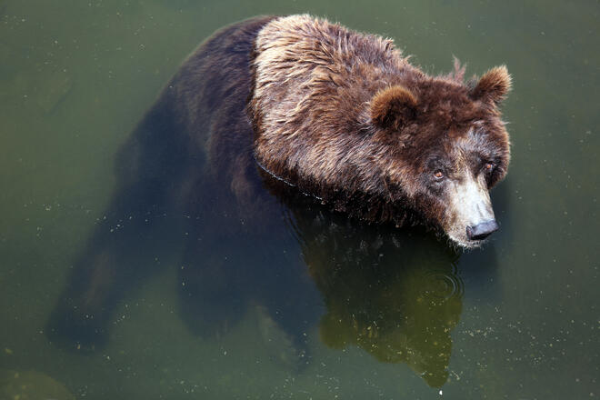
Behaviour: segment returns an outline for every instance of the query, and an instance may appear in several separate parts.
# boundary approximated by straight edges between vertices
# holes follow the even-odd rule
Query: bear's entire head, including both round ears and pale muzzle
[[[470,85],[449,78],[403,84],[371,101],[374,140],[393,155],[376,158],[385,181],[457,245],[481,245],[498,228],[489,190],[510,158],[497,109],[510,76],[498,67]]]

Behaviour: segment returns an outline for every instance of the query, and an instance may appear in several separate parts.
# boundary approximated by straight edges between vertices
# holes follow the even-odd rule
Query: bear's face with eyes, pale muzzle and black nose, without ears
[[[443,141],[425,159],[419,171],[425,185],[415,194],[417,204],[425,205],[424,214],[464,247],[481,245],[498,228],[489,189],[504,177],[508,161],[502,142],[495,145],[492,135],[477,125]]]

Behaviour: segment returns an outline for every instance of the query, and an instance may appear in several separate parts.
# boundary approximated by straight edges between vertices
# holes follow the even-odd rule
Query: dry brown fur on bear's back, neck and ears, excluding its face
[[[505,175],[508,135],[496,107],[510,87],[505,67],[466,84],[457,63],[454,74],[425,75],[391,40],[308,15],[265,25],[253,64],[255,156],[337,210],[396,225],[417,212],[444,225],[427,160],[455,163],[452,149],[469,135],[485,137],[472,141],[495,161],[489,187]]]

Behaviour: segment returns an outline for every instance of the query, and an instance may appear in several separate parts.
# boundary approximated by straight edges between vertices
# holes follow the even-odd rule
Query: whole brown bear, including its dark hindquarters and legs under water
[[[497,67],[465,83],[464,72],[455,63],[425,75],[391,40],[309,15],[216,32],[117,155],[115,195],[48,335],[102,343],[119,301],[170,262],[181,265],[188,321],[212,313],[202,319],[227,325],[258,298],[293,316],[288,326],[310,325],[317,312],[302,299],[314,287],[296,255],[319,253],[340,225],[332,213],[383,223],[372,227],[422,223],[480,245],[497,228],[488,190],[509,160],[498,105],[510,77]],[[319,233],[306,233],[314,222]]]

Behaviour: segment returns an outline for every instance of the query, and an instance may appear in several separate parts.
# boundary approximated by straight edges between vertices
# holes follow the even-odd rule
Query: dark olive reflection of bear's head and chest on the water
[[[359,346],[379,361],[409,365],[428,385],[444,385],[462,309],[458,255],[416,229],[303,212],[295,222],[325,302],[325,345]]]

